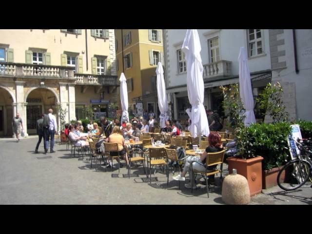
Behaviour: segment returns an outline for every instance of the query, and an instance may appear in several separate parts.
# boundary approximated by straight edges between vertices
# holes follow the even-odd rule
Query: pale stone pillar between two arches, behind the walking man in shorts
[[[24,81],[15,81],[16,84],[16,112],[14,113],[14,115],[16,115],[16,113],[20,113],[20,117],[23,121],[23,127],[24,127],[24,133],[25,133],[25,137],[28,137],[27,134],[27,115],[26,115],[26,106],[27,103],[24,100]],[[13,109],[14,108],[14,104],[13,103]]]

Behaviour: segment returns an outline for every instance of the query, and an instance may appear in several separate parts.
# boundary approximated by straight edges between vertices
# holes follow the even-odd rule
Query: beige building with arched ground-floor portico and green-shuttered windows
[[[0,136],[12,136],[20,113],[26,134],[57,105],[66,121],[82,118],[92,105],[96,117],[117,102],[114,29],[0,30]]]

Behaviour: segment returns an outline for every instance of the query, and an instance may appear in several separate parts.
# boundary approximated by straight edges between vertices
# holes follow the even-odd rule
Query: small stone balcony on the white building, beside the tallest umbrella
[[[205,80],[217,80],[231,75],[231,61],[220,60],[204,64],[203,78]]]

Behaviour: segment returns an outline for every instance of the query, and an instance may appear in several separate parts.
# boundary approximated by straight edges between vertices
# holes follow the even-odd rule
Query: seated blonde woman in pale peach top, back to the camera
[[[118,126],[115,126],[113,128],[112,134],[109,135],[109,137],[105,141],[109,142],[109,143],[118,143],[118,152],[110,152],[110,155],[111,156],[122,156],[123,159],[126,161],[127,166],[128,166],[129,160],[128,160],[128,157],[126,156],[126,151],[124,149],[125,139],[122,137],[122,131],[120,130],[120,128]],[[117,161],[119,161],[119,158],[117,159]],[[112,162],[110,163],[109,167],[111,167],[111,166],[113,166]],[[120,167],[122,167],[121,164],[120,164]]]

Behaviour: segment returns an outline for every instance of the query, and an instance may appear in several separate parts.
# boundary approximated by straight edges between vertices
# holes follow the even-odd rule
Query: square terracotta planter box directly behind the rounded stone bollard
[[[245,176],[248,181],[250,195],[256,195],[262,192],[262,165],[263,157],[257,156],[250,159],[241,159],[237,157],[228,157],[229,174],[236,169],[237,174]]]

